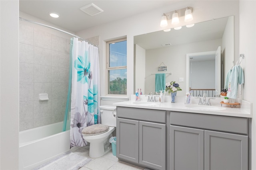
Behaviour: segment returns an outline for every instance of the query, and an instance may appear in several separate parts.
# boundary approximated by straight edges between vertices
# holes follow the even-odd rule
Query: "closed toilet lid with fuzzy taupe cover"
[[[82,134],[83,135],[98,135],[98,134],[108,131],[108,129],[109,129],[108,125],[95,124],[95,125],[85,127],[82,130]]]

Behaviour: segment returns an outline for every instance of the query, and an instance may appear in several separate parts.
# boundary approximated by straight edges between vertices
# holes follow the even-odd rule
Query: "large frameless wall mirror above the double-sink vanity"
[[[217,49],[221,54],[218,61]],[[199,55],[200,59],[196,59],[196,54],[204,53],[213,55]],[[207,56],[212,58],[207,59]],[[164,73],[166,82],[176,81],[182,88],[177,96],[184,96],[193,89],[193,82],[205,84],[204,89],[214,91],[208,92],[207,96],[214,97],[224,87],[225,75],[234,61],[234,16],[195,23],[193,27],[182,26],[179,30],[134,36],[134,57],[134,89],[141,88],[144,94],[154,93],[155,75]],[[191,63],[196,60],[198,63]],[[203,63],[209,60],[215,64],[212,68]],[[191,65],[202,70],[194,71],[192,75]],[[158,69],[161,66],[163,71]],[[212,76],[209,86],[206,85],[209,84],[206,76]]]

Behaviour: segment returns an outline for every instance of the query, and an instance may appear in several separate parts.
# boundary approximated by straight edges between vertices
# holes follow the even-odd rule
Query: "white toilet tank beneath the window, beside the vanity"
[[[100,106],[101,124],[116,127],[116,106]]]

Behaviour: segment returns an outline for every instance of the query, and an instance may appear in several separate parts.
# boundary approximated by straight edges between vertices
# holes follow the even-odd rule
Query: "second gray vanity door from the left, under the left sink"
[[[150,168],[166,169],[166,125],[140,121],[139,163]]]

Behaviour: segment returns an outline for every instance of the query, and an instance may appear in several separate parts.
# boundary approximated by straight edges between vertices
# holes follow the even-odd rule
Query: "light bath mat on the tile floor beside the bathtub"
[[[91,160],[90,158],[67,152],[34,168],[34,170],[78,170],[78,168]]]

